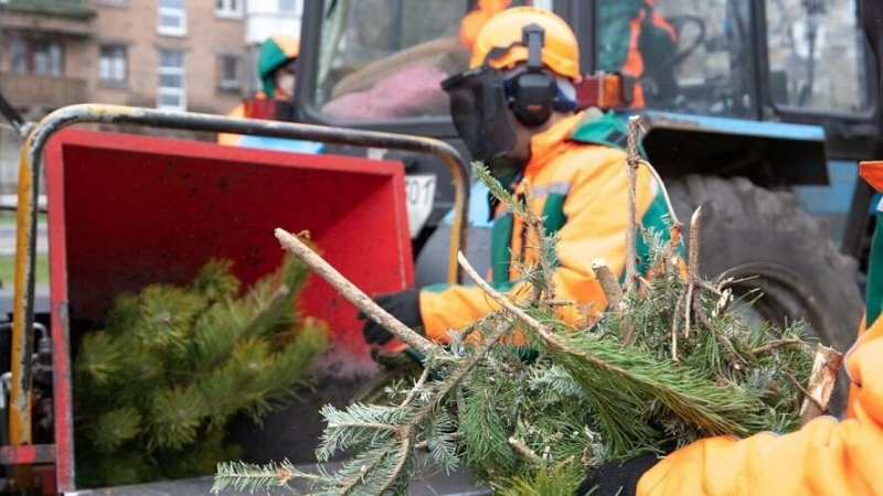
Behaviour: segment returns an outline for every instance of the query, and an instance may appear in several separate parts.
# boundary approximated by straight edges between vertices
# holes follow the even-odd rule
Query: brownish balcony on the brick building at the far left
[[[0,72],[0,93],[15,106],[46,108],[88,100],[86,79]]]

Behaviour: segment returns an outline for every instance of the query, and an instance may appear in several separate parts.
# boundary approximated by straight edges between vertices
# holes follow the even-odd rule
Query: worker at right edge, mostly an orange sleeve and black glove
[[[883,162],[863,163],[861,175],[883,192]],[[870,263],[865,317],[843,362],[852,382],[842,421],[821,417],[785,435],[709,438],[663,459],[611,462],[577,494],[883,495],[883,204]]]

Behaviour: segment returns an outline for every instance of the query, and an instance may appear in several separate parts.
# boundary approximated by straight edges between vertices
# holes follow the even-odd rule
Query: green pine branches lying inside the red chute
[[[295,398],[326,348],[323,323],[296,311],[308,272],[286,258],[241,291],[232,262],[211,260],[187,287],[118,295],[74,364],[77,485],[205,475],[238,457],[227,421]]]

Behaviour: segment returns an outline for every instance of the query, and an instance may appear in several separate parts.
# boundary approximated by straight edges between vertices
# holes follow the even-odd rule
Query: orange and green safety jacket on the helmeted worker
[[[517,198],[544,217],[546,235],[557,236],[553,283],[555,299],[574,304],[557,306],[558,316],[573,325],[585,319],[585,308],[600,312],[607,304],[592,263],[604,259],[614,274],[626,263],[628,175],[625,128],[611,114],[587,119],[567,117],[531,140],[531,159],[514,187]],[[637,172],[637,218],[645,229],[668,236],[672,215],[662,184],[646,166]],[[646,268],[648,247],[636,236],[636,254]],[[528,282],[519,271],[539,258],[538,239],[524,219],[504,205],[494,212],[491,231],[491,279],[510,298],[526,296]],[[430,339],[449,342],[448,330],[459,330],[498,310],[475,285],[434,285],[419,293],[424,332]]]

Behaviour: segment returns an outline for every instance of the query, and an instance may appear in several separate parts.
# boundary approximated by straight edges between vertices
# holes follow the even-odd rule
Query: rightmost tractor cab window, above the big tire
[[[816,112],[869,109],[854,0],[767,1],[766,21],[774,104]]]

